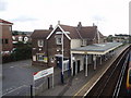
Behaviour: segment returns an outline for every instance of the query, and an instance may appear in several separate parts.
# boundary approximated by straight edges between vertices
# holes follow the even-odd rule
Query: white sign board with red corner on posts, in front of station
[[[34,73],[34,81],[46,77],[47,75],[53,74],[53,68],[49,68],[39,72]]]

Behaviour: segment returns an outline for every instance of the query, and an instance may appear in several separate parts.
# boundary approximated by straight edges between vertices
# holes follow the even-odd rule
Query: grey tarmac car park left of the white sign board
[[[32,65],[31,60],[2,64],[2,95],[21,95],[33,84],[33,73],[41,70]],[[1,81],[0,81],[1,82]],[[22,93],[25,94],[25,93]],[[21,95],[22,96],[22,95]]]

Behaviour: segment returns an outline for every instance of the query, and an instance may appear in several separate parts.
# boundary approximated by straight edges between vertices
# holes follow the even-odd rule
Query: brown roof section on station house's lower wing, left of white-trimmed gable
[[[32,38],[46,38],[51,33],[51,29],[36,29],[31,35]]]

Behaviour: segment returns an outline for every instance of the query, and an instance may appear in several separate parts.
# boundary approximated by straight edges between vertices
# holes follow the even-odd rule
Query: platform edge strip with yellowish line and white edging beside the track
[[[110,68],[111,63],[117,59],[117,57],[129,46],[120,47],[116,50],[116,54],[107,60],[106,62],[103,62],[102,69],[97,69],[97,74],[95,74],[73,97],[76,96],[83,96],[87,94],[94,85],[99,81],[99,78],[104,75],[104,73]]]

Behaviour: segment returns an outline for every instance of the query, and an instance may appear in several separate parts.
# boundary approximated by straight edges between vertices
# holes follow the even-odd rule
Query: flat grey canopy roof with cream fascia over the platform
[[[94,45],[90,45],[86,47],[71,49],[71,53],[106,54],[107,52],[115,50],[117,47],[119,47],[121,45],[122,45],[122,42],[94,44]]]

